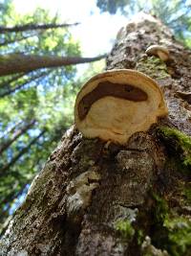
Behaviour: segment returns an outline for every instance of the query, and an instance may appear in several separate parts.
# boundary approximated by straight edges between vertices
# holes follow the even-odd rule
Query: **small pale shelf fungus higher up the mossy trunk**
[[[148,56],[158,56],[163,61],[167,61],[170,58],[168,49],[161,45],[151,45],[146,49],[145,53]]]

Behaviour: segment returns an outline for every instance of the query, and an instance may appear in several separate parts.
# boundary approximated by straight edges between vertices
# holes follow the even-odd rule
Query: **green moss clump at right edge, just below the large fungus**
[[[191,166],[191,137],[187,136],[180,130],[176,128],[159,128],[159,133],[162,138],[167,142],[172,142],[169,144],[174,146],[174,151],[181,151],[181,163],[185,166]]]

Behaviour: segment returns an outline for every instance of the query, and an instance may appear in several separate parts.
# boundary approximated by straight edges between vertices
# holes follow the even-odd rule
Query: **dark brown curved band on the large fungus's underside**
[[[111,81],[99,82],[96,88],[85,95],[78,105],[78,116],[83,120],[88,114],[91,106],[99,99],[113,96],[133,102],[146,101],[148,95],[141,89],[131,84],[113,83]]]

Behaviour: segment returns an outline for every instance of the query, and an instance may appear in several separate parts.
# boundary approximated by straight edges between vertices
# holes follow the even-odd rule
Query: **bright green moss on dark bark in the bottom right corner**
[[[172,256],[191,255],[191,220],[170,210],[166,201],[158,195],[153,198],[156,202],[152,209],[152,243],[166,249]]]

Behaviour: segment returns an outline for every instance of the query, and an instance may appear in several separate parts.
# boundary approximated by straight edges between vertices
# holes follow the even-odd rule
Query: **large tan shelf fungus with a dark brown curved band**
[[[79,91],[74,106],[76,127],[85,137],[125,144],[167,115],[159,85],[130,69],[96,75]]]

